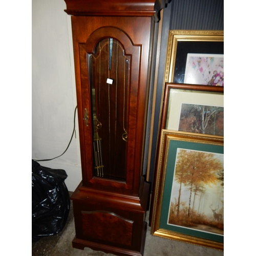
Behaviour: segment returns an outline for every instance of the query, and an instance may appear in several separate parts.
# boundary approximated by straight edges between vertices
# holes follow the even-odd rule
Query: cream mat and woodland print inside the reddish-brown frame
[[[223,94],[170,90],[166,129],[223,136]]]

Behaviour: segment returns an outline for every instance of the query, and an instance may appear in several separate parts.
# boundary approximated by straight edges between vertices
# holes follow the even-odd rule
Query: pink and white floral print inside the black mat
[[[188,53],[184,83],[224,86],[224,55]]]

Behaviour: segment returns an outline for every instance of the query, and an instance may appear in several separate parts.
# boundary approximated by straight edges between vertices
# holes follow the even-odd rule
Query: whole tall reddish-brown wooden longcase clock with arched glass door
[[[72,15],[82,181],[73,247],[142,255],[142,176],[155,0],[65,0]],[[169,1],[168,1],[169,2]]]

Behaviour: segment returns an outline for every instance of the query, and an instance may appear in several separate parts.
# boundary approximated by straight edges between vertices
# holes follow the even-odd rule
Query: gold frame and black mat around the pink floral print
[[[224,31],[170,30],[164,83],[184,83],[187,53],[224,54]]]

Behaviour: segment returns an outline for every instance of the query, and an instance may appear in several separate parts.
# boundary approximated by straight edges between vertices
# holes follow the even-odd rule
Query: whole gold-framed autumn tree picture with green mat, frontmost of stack
[[[223,250],[223,137],[162,130],[151,234]]]

